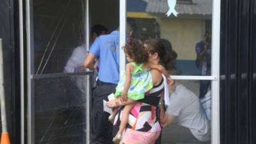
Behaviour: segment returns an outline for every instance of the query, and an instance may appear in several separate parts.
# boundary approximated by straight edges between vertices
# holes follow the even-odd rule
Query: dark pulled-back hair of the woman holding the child
[[[175,66],[175,60],[177,58],[177,53],[175,51],[166,51],[163,42],[161,40],[152,39],[147,40],[145,44],[148,47],[148,52],[150,54],[157,53],[159,56],[159,63],[164,66],[166,70]]]

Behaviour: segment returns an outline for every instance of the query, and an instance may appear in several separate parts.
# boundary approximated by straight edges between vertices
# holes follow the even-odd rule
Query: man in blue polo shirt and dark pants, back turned
[[[131,26],[127,26],[128,34],[132,34]],[[109,35],[101,35],[95,39],[84,60],[84,67],[93,69],[93,61],[99,59],[99,74],[93,91],[92,106],[92,143],[112,144],[113,125],[108,122],[109,113],[103,111],[103,100],[115,92],[119,81],[119,30]]]

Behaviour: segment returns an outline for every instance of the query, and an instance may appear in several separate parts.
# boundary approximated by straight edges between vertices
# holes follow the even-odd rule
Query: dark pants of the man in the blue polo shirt
[[[108,122],[109,113],[103,111],[103,100],[115,92],[116,84],[97,82],[93,91],[92,144],[113,144],[113,124]]]

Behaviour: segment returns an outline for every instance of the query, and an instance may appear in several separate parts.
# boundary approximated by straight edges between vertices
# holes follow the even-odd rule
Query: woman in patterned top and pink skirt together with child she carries
[[[124,129],[130,128],[125,132],[124,143],[131,143],[129,137],[135,138],[136,143],[152,143],[158,138],[161,131],[157,105],[163,93],[164,84],[159,70],[166,74],[166,70],[161,65],[166,67],[166,62],[172,61],[173,58],[166,55],[167,52],[163,44],[157,40],[151,45],[147,45],[147,43],[141,45],[138,41],[130,39],[125,45],[124,51],[127,60],[132,62],[126,66],[125,81],[123,78],[116,87],[115,95],[121,95],[121,97],[108,102],[108,106],[111,108],[125,105],[116,116],[115,125],[120,125],[120,127],[113,141],[118,143]],[[113,119],[115,114],[116,108],[110,119]],[[127,123],[128,127],[126,127]]]

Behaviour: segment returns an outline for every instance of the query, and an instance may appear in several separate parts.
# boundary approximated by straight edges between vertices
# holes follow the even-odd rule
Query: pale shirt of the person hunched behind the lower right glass
[[[200,100],[183,84],[176,86],[170,97],[170,106],[168,106],[166,113],[177,116],[177,124],[188,127],[198,140],[211,140],[209,121]]]

